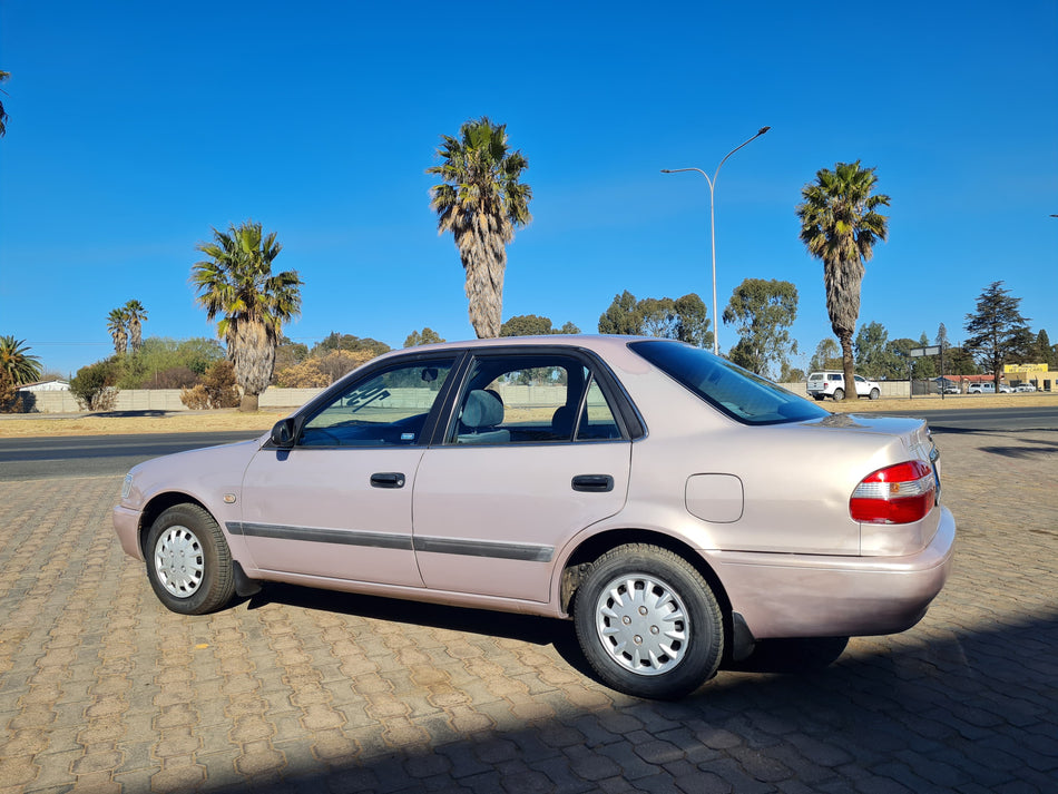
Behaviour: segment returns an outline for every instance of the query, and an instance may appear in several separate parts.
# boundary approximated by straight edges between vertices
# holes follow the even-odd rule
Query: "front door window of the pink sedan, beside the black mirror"
[[[417,362],[354,381],[311,415],[300,447],[408,447],[423,425],[454,360]]]

